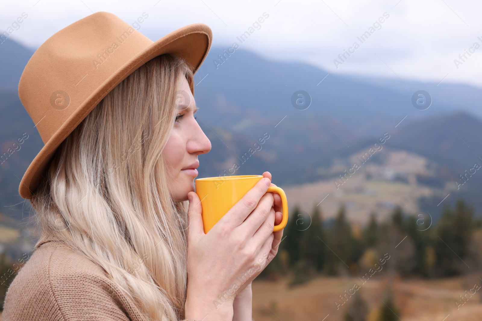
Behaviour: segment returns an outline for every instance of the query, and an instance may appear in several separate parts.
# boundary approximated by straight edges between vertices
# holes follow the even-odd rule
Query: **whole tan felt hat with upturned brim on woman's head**
[[[195,73],[212,38],[209,26],[192,24],[153,42],[115,14],[97,12],[47,39],[28,61],[18,85],[20,100],[45,144],[20,182],[20,196],[32,196],[60,143],[135,69],[172,53]],[[194,94],[194,79],[189,86]]]

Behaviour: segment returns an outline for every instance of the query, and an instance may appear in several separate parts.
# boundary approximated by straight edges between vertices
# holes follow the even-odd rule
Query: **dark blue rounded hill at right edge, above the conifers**
[[[469,201],[476,213],[482,210],[482,121],[460,111],[428,117],[400,126],[390,138],[390,146],[427,157],[438,166],[428,184],[446,182],[447,193],[421,198],[421,208],[440,213],[438,204],[450,193],[444,205],[455,205],[458,198]],[[477,165],[476,165],[477,164]]]

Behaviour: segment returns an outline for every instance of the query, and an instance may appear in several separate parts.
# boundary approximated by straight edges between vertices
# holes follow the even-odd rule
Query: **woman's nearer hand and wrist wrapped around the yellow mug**
[[[270,175],[269,175],[270,176]],[[265,180],[265,179],[263,179]],[[189,192],[186,319],[226,320],[233,300],[278,251],[282,231],[273,232],[275,198],[268,184],[256,183],[205,234],[201,201]],[[278,213],[281,217],[281,213]]]

